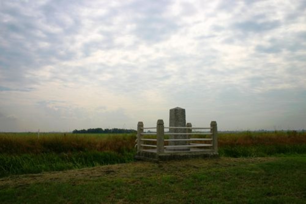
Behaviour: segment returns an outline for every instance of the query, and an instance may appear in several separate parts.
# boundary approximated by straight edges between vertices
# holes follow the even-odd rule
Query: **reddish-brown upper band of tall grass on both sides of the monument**
[[[41,133],[38,138],[37,133],[0,133],[0,154],[66,153],[92,150],[120,153],[134,150],[135,139],[135,134]],[[287,150],[290,149],[289,147],[297,147],[297,153],[303,153],[301,152],[303,147],[299,147],[299,145],[303,146],[304,144],[306,144],[306,133],[296,131],[247,131],[219,133],[218,135],[218,146],[220,149],[278,146]],[[290,153],[292,152],[290,150]],[[265,154],[269,154],[269,151]]]

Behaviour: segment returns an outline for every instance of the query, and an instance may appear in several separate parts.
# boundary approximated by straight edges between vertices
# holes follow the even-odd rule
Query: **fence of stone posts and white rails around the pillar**
[[[145,130],[154,129],[156,132],[145,132]],[[169,132],[165,132],[168,129]],[[181,129],[181,131],[180,131]],[[208,132],[192,132],[192,130],[209,130]],[[146,135],[152,135],[147,137]],[[156,135],[156,138],[155,138]],[[165,135],[169,135],[169,139],[165,139]],[[194,135],[210,135],[208,138],[194,138]],[[173,155],[185,153],[184,155],[194,153],[208,153],[218,154],[218,130],[216,121],[211,121],[208,128],[193,128],[191,123],[187,123],[186,127],[164,127],[163,120],[158,120],[156,127],[144,127],[143,122],[137,124],[137,154],[142,152],[148,152],[159,155]],[[147,142],[154,144],[147,144]],[[165,141],[168,145],[165,145]],[[206,141],[205,143],[199,143],[199,141]],[[156,143],[155,143],[156,142]],[[193,142],[193,143],[192,143]],[[194,143],[196,142],[196,143]],[[207,143],[208,142],[208,143]],[[150,156],[151,157],[151,156]]]

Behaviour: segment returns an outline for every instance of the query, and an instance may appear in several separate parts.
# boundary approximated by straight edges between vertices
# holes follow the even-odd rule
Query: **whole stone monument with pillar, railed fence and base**
[[[147,129],[156,129],[156,132],[149,132]],[[192,129],[210,131],[192,132]],[[154,135],[156,139],[152,138]],[[196,137],[197,135],[209,136],[203,138]],[[143,122],[138,122],[136,145],[135,158],[142,160],[165,161],[177,158],[215,157],[218,156],[217,123],[211,121],[210,127],[192,128],[191,123],[186,124],[185,109],[176,107],[170,109],[169,127],[164,126],[162,119],[157,121],[156,127],[151,128],[144,127]]]

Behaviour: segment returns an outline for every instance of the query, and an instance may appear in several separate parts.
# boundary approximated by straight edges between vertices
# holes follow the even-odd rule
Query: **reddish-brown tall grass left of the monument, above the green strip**
[[[85,134],[86,135],[86,134]],[[86,151],[113,151],[117,153],[134,149],[135,134],[103,135],[43,134],[37,135],[0,133],[0,154],[40,154]]]

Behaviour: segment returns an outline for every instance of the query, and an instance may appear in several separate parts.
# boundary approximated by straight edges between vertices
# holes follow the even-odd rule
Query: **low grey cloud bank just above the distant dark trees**
[[[106,110],[107,107],[97,107],[93,112],[86,108],[70,106],[65,101],[40,101],[36,104],[41,117],[37,122],[37,128],[46,130],[70,130],[82,128],[124,128],[125,124],[130,125],[131,118],[125,110]],[[136,124],[136,122],[135,122]]]

